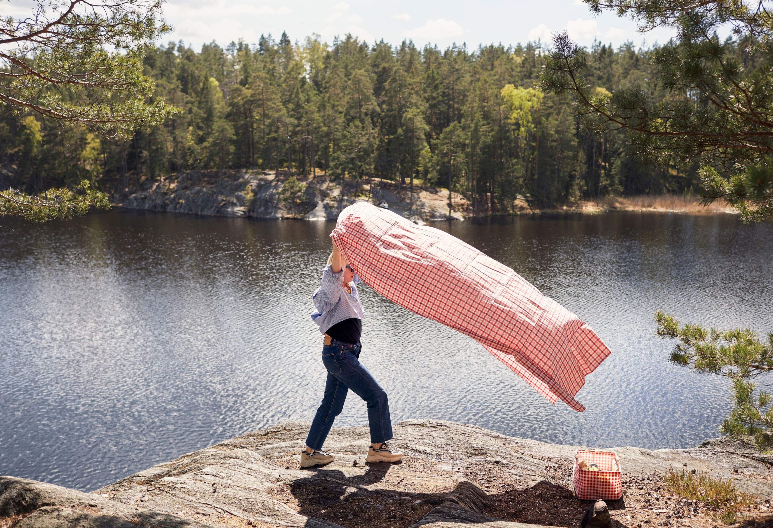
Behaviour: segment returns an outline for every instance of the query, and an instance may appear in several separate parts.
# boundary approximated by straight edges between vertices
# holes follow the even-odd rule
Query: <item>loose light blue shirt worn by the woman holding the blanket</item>
[[[352,287],[352,293],[349,293],[343,287],[343,269],[338,273],[333,273],[330,264],[322,268],[322,284],[319,285],[312,297],[316,308],[312,313],[312,319],[319,326],[320,333],[324,334],[332,325],[342,322],[344,319],[365,318],[363,305],[359,301],[359,293],[357,293],[357,284],[360,281],[362,279],[359,278],[359,275],[354,274],[354,278],[349,283]]]

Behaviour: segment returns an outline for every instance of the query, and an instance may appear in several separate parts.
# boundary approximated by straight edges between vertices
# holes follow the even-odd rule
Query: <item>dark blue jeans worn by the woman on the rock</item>
[[[386,392],[359,363],[361,349],[359,341],[352,344],[337,339],[322,347],[322,363],[328,370],[328,380],[325,383],[325,397],[322,398],[322,404],[319,404],[312,428],[306,437],[308,447],[322,449],[335,417],[343,410],[349,389],[368,404],[370,441],[375,444],[392,439],[392,421]]]

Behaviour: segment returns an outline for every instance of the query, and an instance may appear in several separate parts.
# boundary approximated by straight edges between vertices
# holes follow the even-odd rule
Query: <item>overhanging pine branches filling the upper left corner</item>
[[[158,126],[179,111],[153,99],[155,82],[143,73],[146,47],[169,30],[161,9],[162,0],[34,0],[29,17],[0,18],[0,112],[18,120],[9,127],[15,141],[3,144],[16,144],[11,150],[28,187],[46,188],[45,129],[24,113],[68,124],[70,132],[86,127],[128,139],[138,127]],[[17,138],[14,128],[19,128]],[[70,135],[60,135],[60,141],[67,145]],[[0,215],[43,221],[83,214],[90,205],[107,206],[107,196],[92,188],[104,169],[100,139],[90,131],[79,135],[82,151],[60,156],[52,165],[62,166],[68,176],[87,177],[90,185],[81,182],[73,190],[49,189],[38,196],[9,189],[0,194]]]

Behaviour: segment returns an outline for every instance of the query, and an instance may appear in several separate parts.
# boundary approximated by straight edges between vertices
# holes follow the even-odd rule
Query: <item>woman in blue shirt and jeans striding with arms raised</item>
[[[315,311],[312,319],[325,335],[322,363],[328,370],[325,397],[317,409],[308,431],[305,451],[301,452],[301,466],[329,464],[335,457],[322,451],[335,417],[341,414],[349,389],[367,402],[370,426],[370,448],[366,462],[397,462],[402,453],[386,445],[392,439],[392,422],[386,392],[359,363],[362,346],[363,305],[359,302],[357,284],[360,278],[339,253],[335,244],[322,269],[322,284],[315,292]]]

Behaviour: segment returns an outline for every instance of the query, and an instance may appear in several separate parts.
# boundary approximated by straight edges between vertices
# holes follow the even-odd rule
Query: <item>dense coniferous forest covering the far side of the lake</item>
[[[144,59],[153,97],[179,109],[162,125],[124,141],[5,106],[0,164],[29,192],[84,178],[128,187],[186,170],[413,180],[451,186],[481,214],[506,213],[519,195],[545,205],[696,191],[695,166],[638,158],[627,132],[583,130],[570,97],[540,91],[547,50],[286,34],[200,51],[169,43]],[[588,52],[597,92],[668,97],[648,50],[595,43]]]

